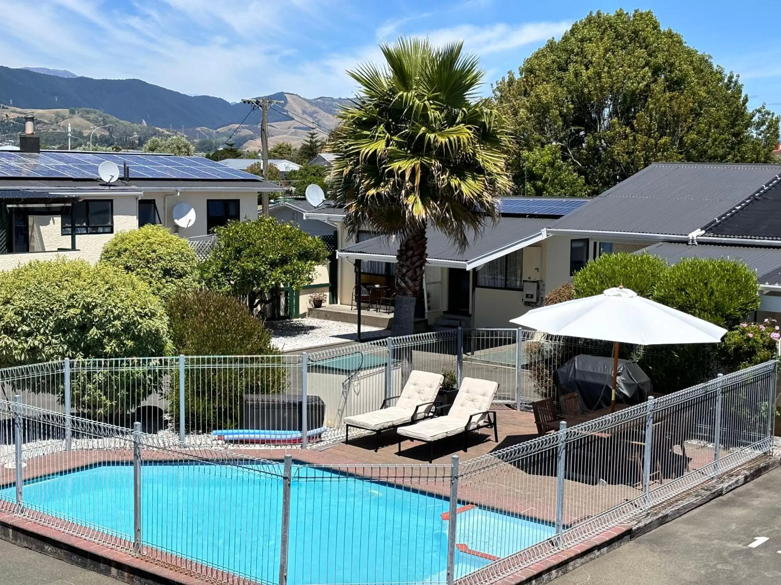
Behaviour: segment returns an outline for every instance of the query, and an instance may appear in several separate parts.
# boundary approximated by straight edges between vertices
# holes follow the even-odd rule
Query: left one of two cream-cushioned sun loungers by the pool
[[[442,374],[413,370],[401,394],[384,399],[380,410],[344,419],[344,444],[347,445],[350,440],[350,427],[374,431],[376,451],[380,449],[380,434],[383,431],[432,416],[434,401],[443,381]],[[394,399],[398,399],[396,404],[387,406],[387,403]]]

